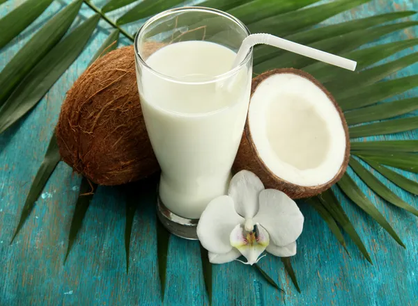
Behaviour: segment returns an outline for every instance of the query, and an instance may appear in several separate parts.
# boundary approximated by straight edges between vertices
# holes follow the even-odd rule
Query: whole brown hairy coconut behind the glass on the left
[[[96,184],[125,184],[159,170],[139,103],[133,46],[109,52],[79,77],[61,106],[56,138],[63,161]]]

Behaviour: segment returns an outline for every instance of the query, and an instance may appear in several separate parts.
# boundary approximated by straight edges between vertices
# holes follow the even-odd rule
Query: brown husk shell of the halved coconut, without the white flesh
[[[328,90],[326,90],[324,86],[319,81],[317,81],[314,77],[312,77],[310,74],[302,70],[297,70],[293,68],[284,68],[284,69],[270,70],[268,72],[264,72],[263,74],[258,75],[257,77],[253,79],[251,83],[251,97],[261,82],[263,82],[265,79],[270,77],[272,74],[282,74],[282,73],[297,74],[301,77],[304,77],[305,79],[308,79],[312,83],[316,84],[316,86],[318,86],[321,90],[323,90],[323,92],[325,92],[327,97],[329,97],[332,103],[334,104],[334,107],[336,108],[336,110],[338,111],[340,115],[344,132],[346,134],[346,154],[344,156],[343,164],[341,165],[339,172],[336,173],[336,175],[330,182],[327,182],[326,184],[322,184],[318,186],[299,186],[297,184],[287,182],[284,179],[281,179],[280,177],[277,177],[277,175],[274,175],[274,173],[270,171],[268,166],[265,165],[261,157],[258,155],[258,151],[251,137],[248,117],[247,117],[247,122],[245,122],[244,133],[242,135],[237,157],[235,158],[235,162],[233,164],[233,169],[236,171],[245,169],[245,170],[254,172],[258,177],[260,177],[265,188],[278,189],[280,191],[283,191],[284,193],[286,193],[289,197],[293,199],[309,198],[314,195],[318,195],[319,193],[322,193],[323,191],[326,191],[328,188],[330,188],[332,185],[338,182],[339,179],[341,179],[343,174],[346,172],[348,161],[350,159],[350,137],[348,135],[348,125],[347,125],[346,119],[344,118],[343,111],[341,110],[339,105],[336,103],[334,97],[332,97],[330,92],[328,92]],[[251,100],[250,100],[250,103],[251,103]]]

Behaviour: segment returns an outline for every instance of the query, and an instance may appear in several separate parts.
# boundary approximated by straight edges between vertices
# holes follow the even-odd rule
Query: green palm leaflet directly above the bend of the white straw
[[[251,33],[270,33],[285,36],[318,24],[344,10],[349,10],[370,0],[339,0],[332,3],[305,8],[295,12],[265,18],[249,25]]]

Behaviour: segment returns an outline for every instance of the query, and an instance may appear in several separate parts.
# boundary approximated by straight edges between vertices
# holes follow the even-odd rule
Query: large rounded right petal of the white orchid
[[[260,193],[260,209],[253,220],[263,225],[274,245],[285,246],[300,236],[304,218],[295,201],[285,193],[265,189]]]

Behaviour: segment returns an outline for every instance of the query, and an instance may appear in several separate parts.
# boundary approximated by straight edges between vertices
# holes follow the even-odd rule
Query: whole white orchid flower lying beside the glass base
[[[256,264],[266,250],[272,255],[296,254],[296,239],[302,233],[303,215],[285,193],[265,189],[253,172],[238,172],[228,195],[212,200],[197,225],[197,236],[212,264],[247,258]]]

